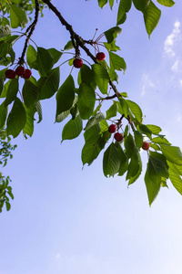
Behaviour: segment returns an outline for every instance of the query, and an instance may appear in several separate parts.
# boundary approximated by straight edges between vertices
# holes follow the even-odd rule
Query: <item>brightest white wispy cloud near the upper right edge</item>
[[[174,47],[175,43],[180,37],[180,32],[180,22],[176,21],[172,33],[169,36],[167,36],[167,39],[165,41],[165,53],[170,57],[174,57],[176,55]]]

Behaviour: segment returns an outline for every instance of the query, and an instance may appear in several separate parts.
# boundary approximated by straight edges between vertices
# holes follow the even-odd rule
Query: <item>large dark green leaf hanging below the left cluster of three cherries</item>
[[[7,135],[15,138],[25,127],[26,115],[25,108],[18,98],[15,99],[12,110],[7,117]]]

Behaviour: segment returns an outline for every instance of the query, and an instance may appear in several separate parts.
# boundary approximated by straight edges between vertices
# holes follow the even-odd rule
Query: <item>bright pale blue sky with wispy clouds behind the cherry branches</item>
[[[99,35],[116,25],[116,4],[110,11],[99,9],[96,0],[52,2],[86,39],[96,27]],[[62,49],[66,28],[48,9],[39,19],[35,43]],[[161,126],[182,148],[181,1],[162,8],[150,40],[134,7],[121,27],[116,44],[127,69],[118,90],[141,106],[145,123]],[[19,54],[22,48],[18,44]],[[61,82],[69,72],[64,65]],[[106,178],[102,153],[82,170],[83,136],[60,144],[64,122],[55,124],[55,113],[55,98],[44,101],[44,120],[35,124],[32,138],[13,141],[14,159],[3,170],[15,200],[0,216],[0,274],[181,274],[182,197],[173,185],[168,182],[149,207],[143,175],[129,188],[125,176]],[[142,157],[146,163],[147,153]]]

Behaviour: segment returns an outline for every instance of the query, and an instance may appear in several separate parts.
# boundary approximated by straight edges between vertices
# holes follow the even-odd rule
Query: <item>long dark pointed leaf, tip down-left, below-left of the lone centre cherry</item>
[[[71,75],[56,93],[56,119],[59,114],[71,109],[75,99],[75,83]]]

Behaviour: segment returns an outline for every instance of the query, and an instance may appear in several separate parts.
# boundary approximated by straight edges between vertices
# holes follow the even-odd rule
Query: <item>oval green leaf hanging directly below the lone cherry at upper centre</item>
[[[96,102],[95,90],[86,83],[81,83],[78,94],[78,109],[82,119],[86,120],[92,115]]]

